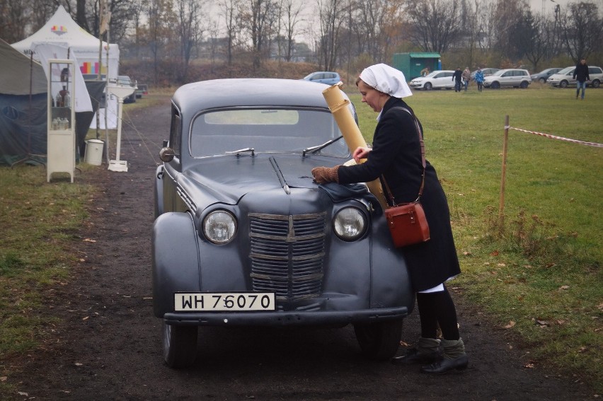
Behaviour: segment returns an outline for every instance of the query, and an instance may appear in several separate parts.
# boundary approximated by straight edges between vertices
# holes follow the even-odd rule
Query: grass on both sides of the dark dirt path
[[[377,115],[349,89],[370,142]],[[535,364],[559,366],[600,393],[603,149],[511,129],[503,224],[498,219],[505,115],[511,127],[602,143],[603,89],[574,97],[572,89],[534,84],[415,92],[407,101],[451,207],[463,269],[451,285],[529,345]],[[43,166],[0,168],[0,376],[60,324],[36,310],[77,264],[65,244],[96,196],[77,180],[46,185],[45,176]]]

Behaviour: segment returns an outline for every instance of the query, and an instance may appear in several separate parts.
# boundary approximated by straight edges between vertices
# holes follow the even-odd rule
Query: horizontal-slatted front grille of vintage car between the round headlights
[[[300,301],[321,293],[325,216],[249,214],[253,291],[274,292],[277,301]]]

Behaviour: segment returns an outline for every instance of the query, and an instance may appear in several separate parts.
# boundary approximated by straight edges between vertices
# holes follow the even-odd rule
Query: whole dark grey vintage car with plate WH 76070
[[[381,206],[364,184],[311,175],[351,158],[325,88],[222,79],[174,93],[152,236],[168,366],[193,364],[198,326],[352,324],[364,356],[396,353],[415,298]]]

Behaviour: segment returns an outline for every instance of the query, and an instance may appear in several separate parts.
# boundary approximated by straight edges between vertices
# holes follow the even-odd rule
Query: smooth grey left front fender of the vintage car
[[[199,236],[188,213],[161,214],[151,240],[153,310],[157,318],[174,310],[174,292],[199,292]]]

